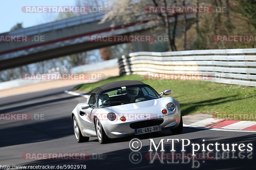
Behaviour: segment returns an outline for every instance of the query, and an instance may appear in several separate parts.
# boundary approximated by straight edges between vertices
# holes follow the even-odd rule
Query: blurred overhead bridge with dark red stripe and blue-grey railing
[[[90,35],[128,35],[149,28],[147,22],[134,22],[129,25],[111,22],[99,24],[104,13],[92,13],[67,18],[47,24],[37,25],[0,34],[26,35],[26,42],[0,42],[0,70],[29,63],[84,52],[123,42],[90,42]],[[141,45],[135,51],[151,51],[150,45]]]

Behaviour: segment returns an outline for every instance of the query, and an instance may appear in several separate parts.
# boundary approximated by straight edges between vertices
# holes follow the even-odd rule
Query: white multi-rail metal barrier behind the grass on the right
[[[137,52],[120,57],[118,63],[120,74],[198,73],[212,77],[209,81],[256,87],[255,48]]]

